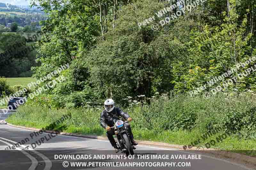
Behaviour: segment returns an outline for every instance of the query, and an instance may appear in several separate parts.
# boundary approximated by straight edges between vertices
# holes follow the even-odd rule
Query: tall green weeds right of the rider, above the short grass
[[[209,99],[165,95],[151,100],[149,106],[134,109],[131,115],[136,129],[209,132],[221,128],[243,139],[255,139],[255,104],[250,93],[238,96],[219,93]]]

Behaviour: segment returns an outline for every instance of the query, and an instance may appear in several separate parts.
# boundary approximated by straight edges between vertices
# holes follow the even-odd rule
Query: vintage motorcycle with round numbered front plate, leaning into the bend
[[[116,138],[117,138],[117,146],[119,147],[119,151],[122,153],[125,153],[126,155],[134,155],[133,150],[136,148],[133,146],[131,139],[128,134],[128,128],[124,127],[124,123],[128,121],[123,121],[123,120],[117,120],[115,122],[115,125],[113,127],[110,127],[111,129],[114,129]],[[124,151],[123,151],[124,150]],[[116,153],[117,153],[116,152]]]

